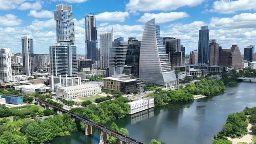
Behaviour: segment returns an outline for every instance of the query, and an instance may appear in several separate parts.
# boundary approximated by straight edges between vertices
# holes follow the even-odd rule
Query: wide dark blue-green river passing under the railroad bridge
[[[166,144],[212,144],[229,114],[256,106],[256,83],[239,83],[225,92],[189,103],[173,103],[132,116],[114,120],[119,128],[127,128],[129,136],[148,144],[150,139]],[[108,122],[107,126],[110,126]],[[83,132],[55,138],[51,144],[95,144],[100,131],[92,136]]]

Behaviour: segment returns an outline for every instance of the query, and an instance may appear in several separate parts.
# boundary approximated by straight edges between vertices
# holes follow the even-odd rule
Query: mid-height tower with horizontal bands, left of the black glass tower
[[[109,76],[123,74],[128,42],[113,42],[109,55]]]

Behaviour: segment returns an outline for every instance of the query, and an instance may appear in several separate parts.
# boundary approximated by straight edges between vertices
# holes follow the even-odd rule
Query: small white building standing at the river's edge
[[[129,114],[135,114],[148,108],[154,107],[154,98],[144,98],[127,103],[129,106]]]

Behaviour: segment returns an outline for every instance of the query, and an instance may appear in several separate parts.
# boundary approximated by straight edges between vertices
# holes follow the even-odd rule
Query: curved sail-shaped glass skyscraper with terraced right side
[[[160,27],[155,19],[149,20],[144,27],[140,45],[140,79],[161,87],[177,84],[175,72],[171,71],[168,54],[165,53]]]

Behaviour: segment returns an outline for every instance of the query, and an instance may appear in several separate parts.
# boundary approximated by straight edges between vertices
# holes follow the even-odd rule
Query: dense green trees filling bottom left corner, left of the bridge
[[[1,144],[41,144],[56,136],[76,130],[76,123],[68,114],[56,115],[44,121],[22,119],[0,123]]]

